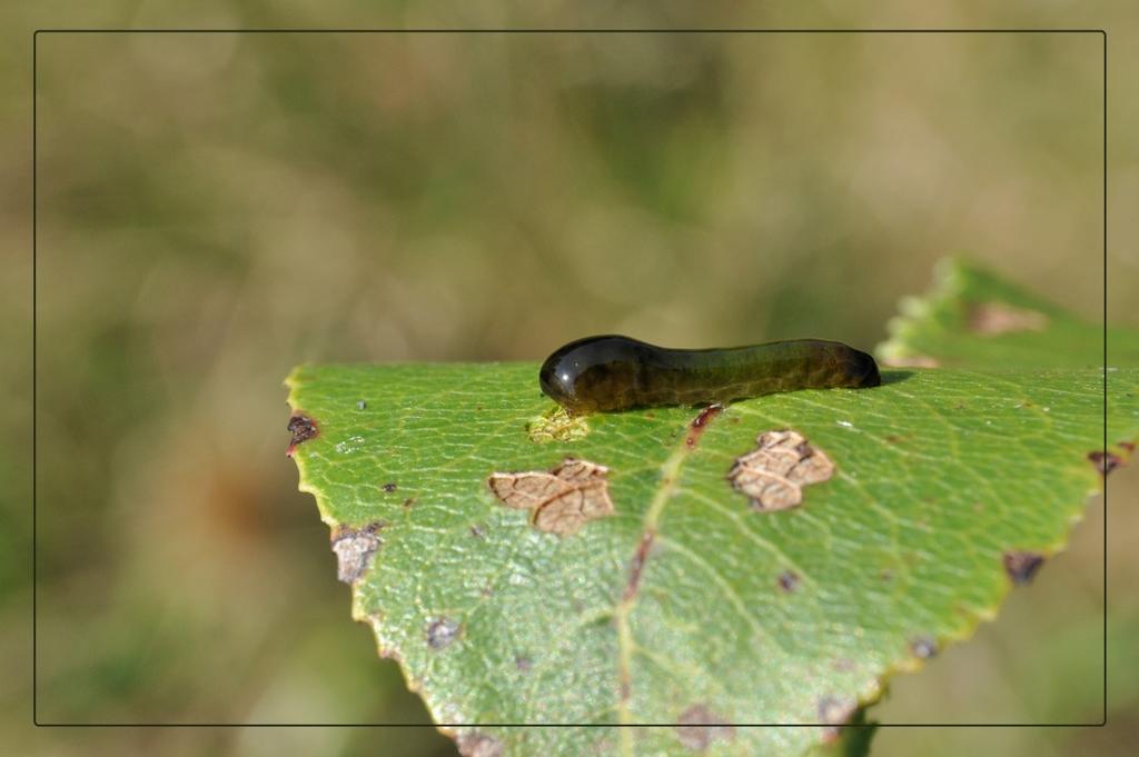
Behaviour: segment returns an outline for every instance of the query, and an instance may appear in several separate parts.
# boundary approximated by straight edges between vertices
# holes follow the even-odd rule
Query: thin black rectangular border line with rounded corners
[[[38,187],[38,41],[40,34],[1098,34],[1103,40],[1103,329],[1104,329],[1104,438],[1103,453],[1106,461],[1107,441],[1107,31],[1104,28],[36,28],[32,33],[32,723],[36,727],[436,727],[452,734],[459,729],[489,727],[675,727],[678,723],[43,723],[39,719],[39,680],[36,644],[36,595],[38,584],[38,510],[36,510],[36,214]],[[844,729],[876,727],[1060,727],[1085,729],[1107,725],[1107,475],[1103,475],[1104,499],[1104,698],[1103,717],[1097,723],[850,723]],[[734,723],[735,727],[828,727],[826,723]],[[833,726],[830,726],[833,727]]]

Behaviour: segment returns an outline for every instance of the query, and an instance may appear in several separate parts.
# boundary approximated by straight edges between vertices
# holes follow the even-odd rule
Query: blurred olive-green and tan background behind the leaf
[[[116,7],[147,25],[148,3]],[[265,16],[248,7],[210,2],[194,20]],[[540,360],[603,331],[869,348],[951,253],[1101,312],[1098,35],[38,44],[41,722],[427,722],[350,620],[327,528],[295,491],[281,381],[296,363]],[[25,64],[5,68],[13,101]],[[25,153],[0,157],[10,196]],[[1139,326],[1139,257],[1109,265],[1111,318]],[[6,279],[14,339],[26,288]],[[26,389],[21,361],[0,370]],[[2,475],[0,665],[15,682],[31,515],[21,466]],[[1139,516],[1116,504],[1139,476],[1112,485],[1109,579],[1134,585],[1120,556],[1139,548]],[[898,678],[871,717],[1098,721],[1101,534],[1095,501],[999,623]],[[1133,668],[1133,593],[1109,633],[1112,667]],[[898,729],[875,754],[1125,754],[1139,683],[1111,685],[1111,730]],[[432,729],[32,732],[27,686],[0,694],[14,754],[456,754]]]

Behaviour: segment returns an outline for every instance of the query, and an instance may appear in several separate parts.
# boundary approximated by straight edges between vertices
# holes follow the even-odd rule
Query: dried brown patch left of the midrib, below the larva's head
[[[507,507],[531,510],[535,528],[568,536],[613,515],[608,472],[605,466],[566,458],[549,472],[491,474],[486,485]]]

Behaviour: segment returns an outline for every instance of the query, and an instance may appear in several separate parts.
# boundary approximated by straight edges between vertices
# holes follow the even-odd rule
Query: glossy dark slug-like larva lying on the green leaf
[[[726,403],[794,389],[878,386],[878,364],[841,342],[795,339],[724,349],[667,349],[606,335],[559,347],[539,384],[571,413]]]

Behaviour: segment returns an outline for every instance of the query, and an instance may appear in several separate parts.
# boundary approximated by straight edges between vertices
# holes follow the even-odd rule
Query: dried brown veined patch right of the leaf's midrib
[[[755,444],[728,471],[732,488],[751,497],[754,510],[794,508],[803,501],[804,486],[820,484],[835,472],[835,463],[797,431],[767,431]]]

